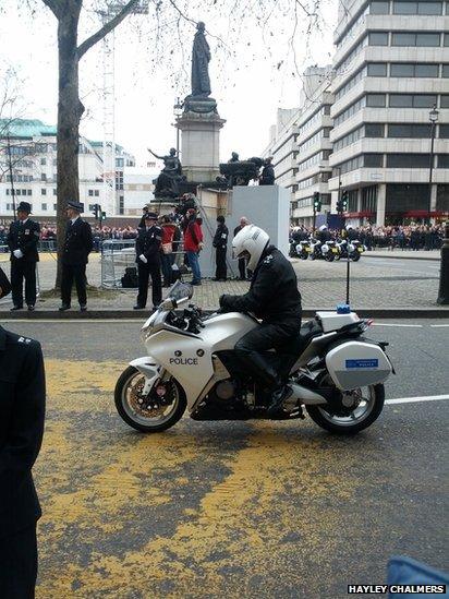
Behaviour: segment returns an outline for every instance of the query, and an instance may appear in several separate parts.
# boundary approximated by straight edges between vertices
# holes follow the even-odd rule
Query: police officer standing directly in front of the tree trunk
[[[86,296],[86,264],[93,250],[92,228],[83,220],[80,214],[84,205],[70,201],[66,204],[69,223],[65,229],[65,240],[62,250],[62,278],[61,278],[61,307],[60,312],[70,309],[72,301],[73,280],[76,285],[76,293],[82,312],[87,310]]]

